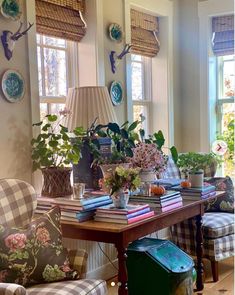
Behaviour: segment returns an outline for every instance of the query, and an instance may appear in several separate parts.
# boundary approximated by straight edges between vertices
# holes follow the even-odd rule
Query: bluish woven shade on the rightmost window
[[[234,15],[212,18],[212,50],[216,56],[234,54]]]

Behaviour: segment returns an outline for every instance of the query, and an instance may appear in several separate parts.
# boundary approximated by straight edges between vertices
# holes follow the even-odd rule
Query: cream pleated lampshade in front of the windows
[[[97,117],[97,124],[117,122],[117,117],[105,86],[69,88],[65,108],[72,114],[65,118],[64,125],[72,131],[82,126],[87,129]]]

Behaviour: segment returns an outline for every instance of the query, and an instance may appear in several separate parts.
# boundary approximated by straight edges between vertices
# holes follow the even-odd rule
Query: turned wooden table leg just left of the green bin
[[[128,295],[127,289],[127,269],[126,269],[126,248],[116,245],[118,252],[118,295]]]

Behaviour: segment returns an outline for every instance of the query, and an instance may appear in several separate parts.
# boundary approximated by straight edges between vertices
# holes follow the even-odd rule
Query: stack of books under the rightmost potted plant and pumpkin
[[[203,187],[182,188],[181,186],[172,189],[179,191],[184,200],[201,200],[213,197],[216,194],[215,186],[204,185]]]

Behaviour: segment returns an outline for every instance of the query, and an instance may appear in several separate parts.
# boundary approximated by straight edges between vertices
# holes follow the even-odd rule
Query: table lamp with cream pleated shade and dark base
[[[64,121],[64,125],[70,131],[80,126],[86,130],[96,118],[96,124],[117,122],[114,107],[105,86],[69,88],[65,108],[71,111],[71,115],[67,116]],[[106,154],[111,153],[109,138],[101,138],[100,145],[101,153],[102,151],[105,151]],[[85,183],[86,188],[97,189],[98,179],[102,178],[102,172],[99,167],[91,168],[93,156],[86,144],[81,152],[82,157],[79,163],[73,166],[73,181],[74,183]]]

